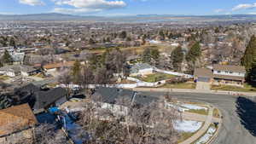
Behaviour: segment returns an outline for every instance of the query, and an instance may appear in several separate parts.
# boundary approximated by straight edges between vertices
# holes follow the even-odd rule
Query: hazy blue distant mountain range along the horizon
[[[189,18],[189,19],[188,19]],[[148,20],[193,20],[193,19],[234,19],[234,20],[256,20],[255,14],[225,14],[225,15],[175,15],[175,14],[138,14],[134,16],[79,16],[73,14],[0,14],[0,20],[91,20],[91,21],[148,21]]]

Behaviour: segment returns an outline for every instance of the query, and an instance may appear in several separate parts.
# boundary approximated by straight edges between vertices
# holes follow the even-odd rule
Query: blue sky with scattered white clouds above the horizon
[[[256,14],[256,0],[0,0],[0,14]]]

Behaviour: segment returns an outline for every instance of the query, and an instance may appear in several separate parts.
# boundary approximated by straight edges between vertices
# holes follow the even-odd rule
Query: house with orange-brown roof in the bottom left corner
[[[38,124],[28,104],[0,110],[0,143],[17,143],[32,138],[32,128]]]

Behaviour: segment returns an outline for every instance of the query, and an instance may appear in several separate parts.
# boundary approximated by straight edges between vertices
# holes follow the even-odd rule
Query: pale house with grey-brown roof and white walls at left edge
[[[16,77],[16,76],[31,76],[33,74],[37,74],[39,71],[38,69],[32,66],[26,65],[11,65],[11,66],[3,66],[0,68],[0,74],[6,75],[9,77]]]

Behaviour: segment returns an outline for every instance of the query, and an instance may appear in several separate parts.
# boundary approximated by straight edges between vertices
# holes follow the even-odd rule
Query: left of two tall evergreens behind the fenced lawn
[[[172,59],[172,66],[176,71],[181,70],[181,63],[183,62],[183,50],[181,47],[177,47],[172,51],[171,59]]]

